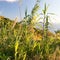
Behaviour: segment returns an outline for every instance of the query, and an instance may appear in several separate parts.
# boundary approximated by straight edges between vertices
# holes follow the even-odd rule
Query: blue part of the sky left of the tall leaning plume
[[[28,13],[31,12],[35,0],[22,0],[22,3],[19,5],[18,0],[0,0],[0,15],[14,19],[16,16],[20,18],[24,17],[26,8]]]

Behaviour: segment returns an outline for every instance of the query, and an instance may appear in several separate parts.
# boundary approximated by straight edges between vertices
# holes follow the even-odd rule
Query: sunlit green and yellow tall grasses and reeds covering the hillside
[[[60,32],[48,29],[46,8],[45,4],[42,29],[38,3],[20,22],[0,16],[0,60],[60,60]]]

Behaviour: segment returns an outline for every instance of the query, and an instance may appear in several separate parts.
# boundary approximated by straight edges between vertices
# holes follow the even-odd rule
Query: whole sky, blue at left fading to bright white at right
[[[21,18],[23,18],[25,9],[27,8],[28,14],[30,14],[35,3],[36,0],[20,0],[20,3],[18,3],[18,0],[0,0],[0,15],[14,20],[16,17],[20,18],[21,12]],[[50,20],[56,27],[54,29],[60,29],[60,0],[40,0],[41,10],[45,3],[49,6],[48,13],[55,14],[51,16]]]

